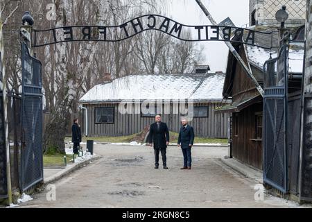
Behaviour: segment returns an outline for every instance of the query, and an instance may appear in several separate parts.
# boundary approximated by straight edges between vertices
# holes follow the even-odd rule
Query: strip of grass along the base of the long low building
[[[139,135],[141,133],[137,133],[134,135],[122,136],[122,137],[83,137],[83,142],[87,142],[87,140],[94,140],[94,142],[107,142],[107,143],[128,143],[128,142],[138,142],[140,141]],[[179,137],[178,133],[170,132],[170,142],[171,144],[177,144],[177,138]],[[66,137],[65,142],[71,141],[71,137]],[[195,137],[194,143],[196,144],[227,144],[227,139],[210,139],[205,137]]]

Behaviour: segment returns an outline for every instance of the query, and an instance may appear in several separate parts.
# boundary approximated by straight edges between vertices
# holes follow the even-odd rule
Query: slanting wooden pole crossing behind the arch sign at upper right
[[[218,24],[216,23],[216,21],[214,20],[214,18],[211,16],[211,14],[209,13],[209,11],[207,10],[207,8],[205,8],[205,6],[202,4],[202,1],[200,0],[196,0],[196,2],[198,3],[198,6],[200,6],[200,8],[202,9],[202,11],[205,13],[205,15],[207,16],[207,18],[209,19],[209,21],[211,22],[211,24],[213,24],[214,26],[218,26]],[[220,33],[220,37],[223,39],[223,33]],[[239,62],[239,64],[241,64],[241,66],[243,67],[244,71],[246,72],[246,74],[248,75],[248,77],[252,80],[252,83],[254,83],[254,85],[256,85],[257,90],[259,92],[259,94],[263,97],[264,96],[264,91],[261,87],[261,85],[259,85],[258,81],[256,78],[254,78],[254,75],[252,74],[251,69],[245,64],[244,60],[241,58],[241,56],[239,55],[239,53],[234,49],[234,46],[232,46],[231,42],[225,42],[225,44],[227,45],[227,47],[229,48],[229,51],[231,51],[231,53],[233,54],[233,56],[236,58],[236,60]]]

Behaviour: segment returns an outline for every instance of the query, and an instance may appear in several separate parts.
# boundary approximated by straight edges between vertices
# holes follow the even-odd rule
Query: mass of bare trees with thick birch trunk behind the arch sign
[[[0,0],[3,13],[10,15],[19,1]],[[21,85],[19,24],[23,12],[30,10],[35,28],[94,24],[116,26],[148,12],[166,9],[168,1],[55,0],[55,18],[47,19],[51,0],[20,2],[12,23],[3,26],[6,47],[6,81],[18,92]],[[121,35],[120,33],[112,33]],[[53,36],[46,37],[49,41]],[[44,109],[49,111],[44,148],[64,152],[64,137],[71,114],[78,112],[78,101],[83,94],[99,83],[130,74],[177,74],[189,71],[200,59],[196,44],[177,41],[169,35],[148,31],[121,42],[67,42],[35,49],[42,62]]]

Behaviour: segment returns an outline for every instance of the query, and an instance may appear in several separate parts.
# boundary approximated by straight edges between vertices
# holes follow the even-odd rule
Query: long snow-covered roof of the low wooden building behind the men
[[[80,103],[180,100],[222,101],[225,74],[132,75],[96,85]]]

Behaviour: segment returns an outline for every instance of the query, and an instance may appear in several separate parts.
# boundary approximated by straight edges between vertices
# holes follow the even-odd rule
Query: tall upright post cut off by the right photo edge
[[[300,200],[312,200],[312,2],[306,1],[305,63],[300,147]]]

